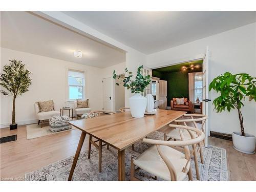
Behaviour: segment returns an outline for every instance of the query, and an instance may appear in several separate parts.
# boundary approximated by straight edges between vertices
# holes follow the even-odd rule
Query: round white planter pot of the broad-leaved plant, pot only
[[[239,132],[232,133],[233,147],[235,150],[246,153],[254,154],[255,153],[255,136],[250,134],[245,134],[241,136]]]

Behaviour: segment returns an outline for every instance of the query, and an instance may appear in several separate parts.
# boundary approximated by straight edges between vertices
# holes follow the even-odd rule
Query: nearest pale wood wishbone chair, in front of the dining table
[[[143,139],[143,142],[154,144],[145,152],[139,155],[136,159],[131,159],[131,180],[139,180],[135,177],[135,173],[139,169],[154,175],[155,177],[162,178],[170,181],[182,181],[188,175],[189,180],[193,180],[190,159],[196,151],[189,151],[188,145],[197,145],[204,140],[205,135],[203,132],[195,127],[170,124],[170,127],[179,129],[181,140],[165,141],[154,139]],[[190,139],[184,138],[184,132],[187,131]],[[195,134],[197,137],[195,137]],[[180,150],[184,150],[183,154]],[[137,166],[137,168],[135,168]]]

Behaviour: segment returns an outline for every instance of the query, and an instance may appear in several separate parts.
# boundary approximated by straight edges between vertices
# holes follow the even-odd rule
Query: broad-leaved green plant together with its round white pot
[[[220,96],[214,99],[215,110],[219,113],[237,109],[241,132],[233,132],[233,147],[243,153],[254,154],[255,136],[245,133],[244,119],[241,112],[243,100],[256,101],[256,78],[246,73],[232,75],[229,72],[219,75],[209,84],[209,91],[213,89],[220,92]],[[255,125],[251,125],[255,127]]]

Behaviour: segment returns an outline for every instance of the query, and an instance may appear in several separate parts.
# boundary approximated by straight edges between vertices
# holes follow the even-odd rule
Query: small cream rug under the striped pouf
[[[41,125],[37,125],[37,123],[28,124],[26,126],[27,139],[34,139],[34,138],[37,138],[37,137],[43,137],[43,136],[46,136],[46,135],[52,135],[52,134],[57,134],[57,133],[61,133],[61,132],[71,131],[71,130],[74,130],[74,129],[76,129],[76,128],[74,126],[72,126],[72,128],[70,130],[52,132],[50,130],[49,125],[45,125],[42,128],[41,128]]]

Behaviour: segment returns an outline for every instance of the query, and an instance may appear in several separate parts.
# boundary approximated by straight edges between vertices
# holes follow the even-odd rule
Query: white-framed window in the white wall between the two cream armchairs
[[[69,99],[84,99],[84,72],[69,70]]]

